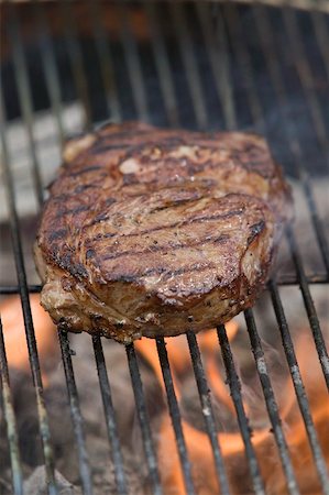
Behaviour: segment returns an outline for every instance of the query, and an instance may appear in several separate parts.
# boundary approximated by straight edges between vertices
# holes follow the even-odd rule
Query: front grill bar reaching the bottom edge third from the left
[[[74,352],[69,348],[69,340],[67,332],[58,328],[58,339],[62,351],[62,359],[65,371],[66,386],[69,399],[69,410],[72,416],[72,422],[74,427],[74,433],[76,438],[76,446],[78,450],[78,461],[80,471],[80,481],[83,485],[84,495],[92,495],[92,482],[89,468],[88,453],[86,449],[84,420],[80,411],[78,391],[76,387],[72,354]]]

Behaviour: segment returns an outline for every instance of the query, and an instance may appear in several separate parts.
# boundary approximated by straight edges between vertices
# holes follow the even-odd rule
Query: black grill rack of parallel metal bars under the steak
[[[113,119],[120,120],[122,118],[122,114],[120,111],[118,88],[112,77],[113,72],[111,70],[113,62],[111,61],[111,53],[109,50],[107,37],[108,35],[101,22],[101,8],[103,6],[99,1],[95,2],[87,1],[87,3],[90,8],[90,14],[92,19],[95,46],[100,61],[100,66],[102,67],[101,76],[103,80],[103,88],[107,95],[109,116]],[[40,44],[41,57],[43,61],[43,67],[47,82],[51,107],[58,127],[59,141],[63,142],[65,131],[62,120],[59,75],[54,56],[54,47],[50,32],[47,30],[46,18],[44,14],[44,6],[42,6],[42,2],[37,1],[33,8],[35,9],[34,14],[36,20],[36,26],[40,30],[39,34],[41,40]],[[161,91],[163,95],[163,102],[168,124],[179,125],[179,116],[177,112],[178,107],[174,89],[173,73],[171,69],[171,64],[168,61],[164,37],[160,26],[158,9],[157,6],[153,2],[151,3],[145,2],[143,4],[143,8],[145,9],[147,20],[150,22],[151,45],[153,50],[154,62],[158,73],[158,85],[161,87]],[[35,153],[35,138],[33,131],[34,111],[31,98],[31,88],[29,82],[26,61],[24,58],[17,7],[12,2],[10,2],[8,9],[10,13],[8,23],[8,35],[13,47],[15,82],[22,109],[22,117],[29,136],[29,151],[32,163],[32,172],[36,198],[41,206],[43,201],[43,188],[40,175],[40,164]],[[75,25],[75,19],[72,12],[72,3],[68,1],[59,2],[58,9],[62,10],[63,19],[65,18],[65,20],[67,21],[65,34],[67,43],[67,52],[73,68],[73,77],[75,79],[77,92],[79,95],[80,101],[84,102],[84,109],[86,113],[86,128],[89,129],[92,124],[90,95],[88,92],[86,72],[83,64],[81,47],[78,42],[78,30],[77,26]],[[143,84],[141,61],[139,56],[136,41],[132,34],[131,26],[129,25],[128,22],[129,18],[127,15],[127,7],[119,6],[118,9],[120,11],[119,12],[120,19],[122,21],[122,31],[120,33],[121,43],[123,46],[124,57],[128,66],[129,78],[132,84],[132,95],[138,110],[136,113],[138,117],[141,118],[142,120],[144,119],[151,121],[152,119],[150,116],[150,108],[147,106],[147,95]],[[184,14],[185,7],[183,4],[171,4],[168,9],[172,14],[173,22],[176,25],[176,32],[177,33],[179,32],[179,35],[177,36],[177,44],[178,50],[180,52],[183,66],[187,75],[187,85],[188,85],[187,89],[191,95],[193,110],[197,121],[197,127],[200,129],[205,129],[208,125],[207,109],[205,105],[202,82],[200,80],[200,75],[196,59],[194,58],[193,40],[190,32],[188,30],[186,16]],[[272,13],[272,10],[261,7],[252,7],[250,9],[252,15],[254,16],[255,25],[260,37],[260,44],[262,46],[262,51],[264,53],[264,57],[267,64],[267,70],[274,88],[277,105],[278,108],[282,109],[287,101],[287,90],[285,87],[284,76],[282,73],[282,64],[279,63],[278,58],[279,55],[277,54],[276,51],[275,33],[273,32],[271,19],[268,18],[268,12]],[[234,129],[238,122],[238,117],[234,108],[234,99],[232,96],[230,85],[230,67],[228,55],[228,37],[230,36],[230,40],[234,40],[234,42],[232,43],[232,51],[237,57],[238,63],[240,64],[240,68],[245,79],[245,97],[248,100],[250,112],[252,114],[252,119],[254,120],[255,123],[257,123],[259,127],[261,127],[261,130],[266,135],[267,129],[264,119],[265,109],[263,108],[263,103],[257,95],[257,81],[254,74],[252,59],[248,51],[248,43],[245,43],[246,33],[243,32],[240,9],[234,6],[220,7],[220,6],[210,6],[208,3],[202,4],[196,3],[195,10],[200,20],[205,46],[209,56],[209,64],[216,78],[216,89],[218,91],[219,100],[222,105],[222,113],[227,129]],[[294,64],[295,64],[294,69],[297,74],[300,84],[300,91],[303,91],[304,94],[306,106],[310,111],[312,120],[314,138],[318,142],[320,150],[323,152],[323,156],[326,156],[328,150],[328,122],[325,121],[323,116],[321,113],[321,109],[319,107],[312,80],[312,73],[310,69],[309,61],[307,58],[307,54],[304,51],[303,42],[298,40],[299,32],[298,32],[298,22],[296,20],[297,14],[295,11],[290,9],[283,9],[281,11],[281,14],[283,15],[286,32],[290,36],[289,40],[292,43],[292,51],[294,53]],[[326,66],[327,77],[329,80],[329,59],[328,53],[326,51],[326,42],[329,40],[326,24],[327,21],[323,14],[317,12],[312,12],[309,15],[311,22],[314,22],[315,25],[315,32],[317,34],[319,51],[323,58],[323,64]],[[209,26],[212,26],[212,29],[209,29]],[[222,55],[220,67],[219,64],[217,63],[217,53],[218,53],[217,50],[219,50],[220,54]],[[1,121],[3,129],[6,129],[7,120],[3,113],[4,107],[3,105],[1,105]],[[283,278],[282,280],[273,279],[268,284],[268,290],[271,294],[273,308],[276,315],[277,326],[281,332],[282,343],[285,351],[288,367],[290,371],[292,380],[294,383],[299,409],[308,435],[309,446],[312,452],[315,466],[318,472],[322,492],[323,494],[328,495],[329,494],[328,470],[318,442],[317,432],[314,426],[307,395],[305,393],[303,378],[296,360],[294,345],[289,333],[288,324],[285,318],[278,289],[278,284],[299,285],[309,320],[309,327],[322,366],[323,376],[327,386],[329,388],[329,359],[309,289],[309,284],[329,282],[328,244],[323,233],[320,217],[317,212],[311,179],[309,177],[308,169],[305,165],[303,143],[299,141],[298,132],[292,129],[290,125],[287,125],[284,118],[284,112],[281,113],[281,117],[283,119],[283,124],[286,128],[286,135],[287,135],[286,144],[287,146],[292,147],[292,156],[293,162],[295,164],[295,173],[298,176],[300,184],[304,188],[305,197],[309,207],[317,243],[321,252],[323,266],[326,268],[326,274],[323,275],[315,273],[308,277],[306,276],[294,228],[289,228],[287,232],[287,239],[292,251],[293,262],[296,268],[296,279],[292,278],[286,279]],[[34,336],[33,321],[29,301],[29,293],[34,292],[37,293],[40,292],[41,287],[39,285],[29,286],[26,282],[21,234],[20,234],[20,219],[15,207],[13,179],[11,173],[10,157],[8,153],[6,132],[2,133],[1,138],[2,138],[3,172],[7,182],[8,206],[10,213],[9,219],[11,224],[13,255],[17,266],[19,285],[10,287],[1,286],[0,293],[1,294],[19,293],[21,296],[25,322],[26,341],[30,354],[30,364],[33,376],[33,383],[35,387],[37,413],[40,419],[40,435],[43,444],[44,463],[48,481],[48,493],[53,495],[58,493],[58,491],[54,477],[54,455],[52,452],[52,442],[47,421],[47,413],[43,397],[43,385],[39,365],[37,346]],[[285,440],[285,435],[281,425],[277,404],[272,389],[271,377],[266,370],[264,352],[262,350],[262,343],[257,333],[252,310],[245,311],[245,321],[251,349],[254,354],[256,369],[262,384],[262,389],[264,393],[264,398],[268,411],[268,417],[272,424],[273,433],[276,441],[276,447],[281,458],[283,471],[286,476],[287,491],[290,494],[298,494],[299,490],[295,479],[288,448]],[[79,408],[79,397],[75,384],[75,375],[72,364],[72,351],[69,348],[69,339],[68,336],[63,331],[58,331],[58,338],[66,376],[72,421],[74,426],[76,447],[78,452],[81,487],[84,493],[89,495],[92,493],[92,480],[88,463],[88,453],[85,444],[84,420]],[[190,358],[194,367],[196,384],[199,392],[200,404],[204,411],[206,431],[209,436],[209,441],[213,452],[213,461],[220,491],[222,494],[230,494],[231,490],[226,472],[223,458],[221,454],[220,444],[218,443],[218,438],[216,435],[211,397],[208,391],[208,384],[202,367],[202,361],[197,343],[197,338],[191,332],[187,332],[186,338],[190,351]],[[251,431],[249,428],[248,417],[243,408],[240,378],[235,370],[230,344],[223,326],[220,326],[218,328],[218,339],[222,353],[222,359],[224,362],[230,392],[234,403],[237,417],[245,447],[246,460],[250,469],[253,490],[256,494],[264,494],[265,493],[264,482],[260,474],[260,468],[251,441]],[[120,453],[120,440],[116,424],[114,406],[111,399],[110,381],[108,378],[108,371],[106,367],[105,358],[102,353],[101,339],[98,337],[94,337],[92,345],[95,351],[97,371],[99,375],[99,384],[103,402],[108,436],[109,441],[112,446],[113,465],[118,493],[125,494],[128,493],[128,485],[123,471],[122,457]],[[188,453],[182,428],[182,417],[177,398],[175,395],[173,377],[171,373],[171,366],[165,349],[164,339],[162,338],[156,339],[156,346],[166,388],[168,409],[176,436],[177,449],[182,463],[186,492],[188,494],[194,494],[195,488],[191,479],[191,470],[190,470],[191,466],[188,460]],[[147,418],[147,410],[143,394],[143,384],[139,371],[139,361],[133,344],[127,346],[127,359],[131,374],[131,382],[136,404],[138,418],[142,431],[145,459],[150,472],[150,481],[153,486],[153,493],[161,494],[162,493],[161,476],[158,472],[155,448],[150,428],[150,421]],[[9,373],[6,360],[2,326],[0,330],[0,362],[1,362],[1,378],[2,378],[1,381],[2,405],[7,422],[8,440],[10,446],[13,490],[15,494],[22,494],[23,475],[20,461],[14,410],[12,406],[11,391],[9,384]]]

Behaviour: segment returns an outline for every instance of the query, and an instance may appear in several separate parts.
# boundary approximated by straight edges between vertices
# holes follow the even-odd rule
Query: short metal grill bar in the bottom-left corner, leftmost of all
[[[10,392],[9,372],[8,372],[1,318],[0,318],[0,371],[1,371],[0,382],[2,392],[2,407],[6,419],[7,438],[10,451],[12,486],[14,495],[23,495],[23,474],[19,449],[19,436],[18,436],[15,414],[12,405],[12,396]]]

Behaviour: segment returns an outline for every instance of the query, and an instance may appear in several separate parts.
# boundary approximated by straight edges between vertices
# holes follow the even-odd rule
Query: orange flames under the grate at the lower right
[[[232,341],[238,332],[238,324],[231,321],[227,324],[227,333]],[[226,406],[232,417],[235,417],[234,406],[229,394],[228,386],[221,376],[219,369],[219,344],[216,330],[201,333],[198,338],[200,350],[204,354],[205,372],[210,384],[211,392],[221,406]],[[191,364],[188,345],[184,336],[167,339],[166,349],[171,362],[173,381],[178,402],[182,402],[184,386],[182,377],[189,373]],[[157,358],[155,342],[151,339],[142,339],[136,342],[136,350],[152,366],[154,373],[163,387],[162,371]],[[309,376],[310,363],[316,363],[316,353],[312,354],[314,345],[305,338],[300,338],[296,346],[301,375],[306,382],[306,389],[310,400],[312,418],[320,441],[322,441],[323,454],[329,461],[329,407],[325,384],[321,383],[319,374]],[[190,371],[191,372],[191,371]],[[320,373],[320,371],[318,370]],[[276,392],[279,414],[283,420],[284,431],[289,447],[292,461],[299,485],[304,494],[321,493],[318,485],[317,473],[314,468],[308,438],[301,419],[293,383],[289,377]],[[246,413],[249,405],[244,404]],[[182,408],[180,408],[182,410]],[[215,472],[212,450],[208,436],[189,424],[186,418],[182,419],[186,447],[191,463],[193,477],[198,495],[215,495],[219,493],[217,476]],[[230,485],[235,494],[245,494],[249,488],[249,469],[244,454],[244,444],[239,430],[222,431],[218,433],[219,444],[224,458]],[[285,476],[282,471],[279,458],[273,433],[270,431],[268,421],[266,427],[253,430],[252,443],[259,460],[263,479],[268,493],[281,495],[286,493]],[[180,462],[176,448],[176,440],[171,419],[167,414],[163,415],[158,435],[158,459],[162,470],[162,480],[165,494],[184,495],[186,493]]]

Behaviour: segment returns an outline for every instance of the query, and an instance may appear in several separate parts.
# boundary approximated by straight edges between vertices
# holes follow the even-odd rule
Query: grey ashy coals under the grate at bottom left
[[[91,466],[96,495],[116,493],[114,469],[111,460],[111,447],[108,440],[105,413],[100,396],[95,356],[90,337],[72,336],[70,345],[75,351],[73,364],[79,394],[80,408],[85,420],[86,446]],[[103,352],[110,371],[110,385],[119,436],[122,447],[125,475],[131,494],[151,494],[147,480],[147,466],[144,461],[142,440],[135,416],[135,405],[131,388],[124,348],[103,342]],[[66,382],[59,346],[47,362],[41,356],[41,369],[46,376],[44,396],[48,413],[52,444],[58,477],[61,495],[81,494],[79,466],[75,438],[70,419]],[[146,365],[141,363],[149,413],[154,421],[162,409],[163,400],[158,384]],[[28,374],[10,370],[11,389],[17,413],[21,460],[23,463],[25,492],[28,495],[46,493],[42,446],[39,435],[39,420],[35,405],[35,392]],[[11,471],[8,459],[6,426],[1,418],[0,431],[0,493],[10,495]],[[3,461],[2,461],[3,460]]]

